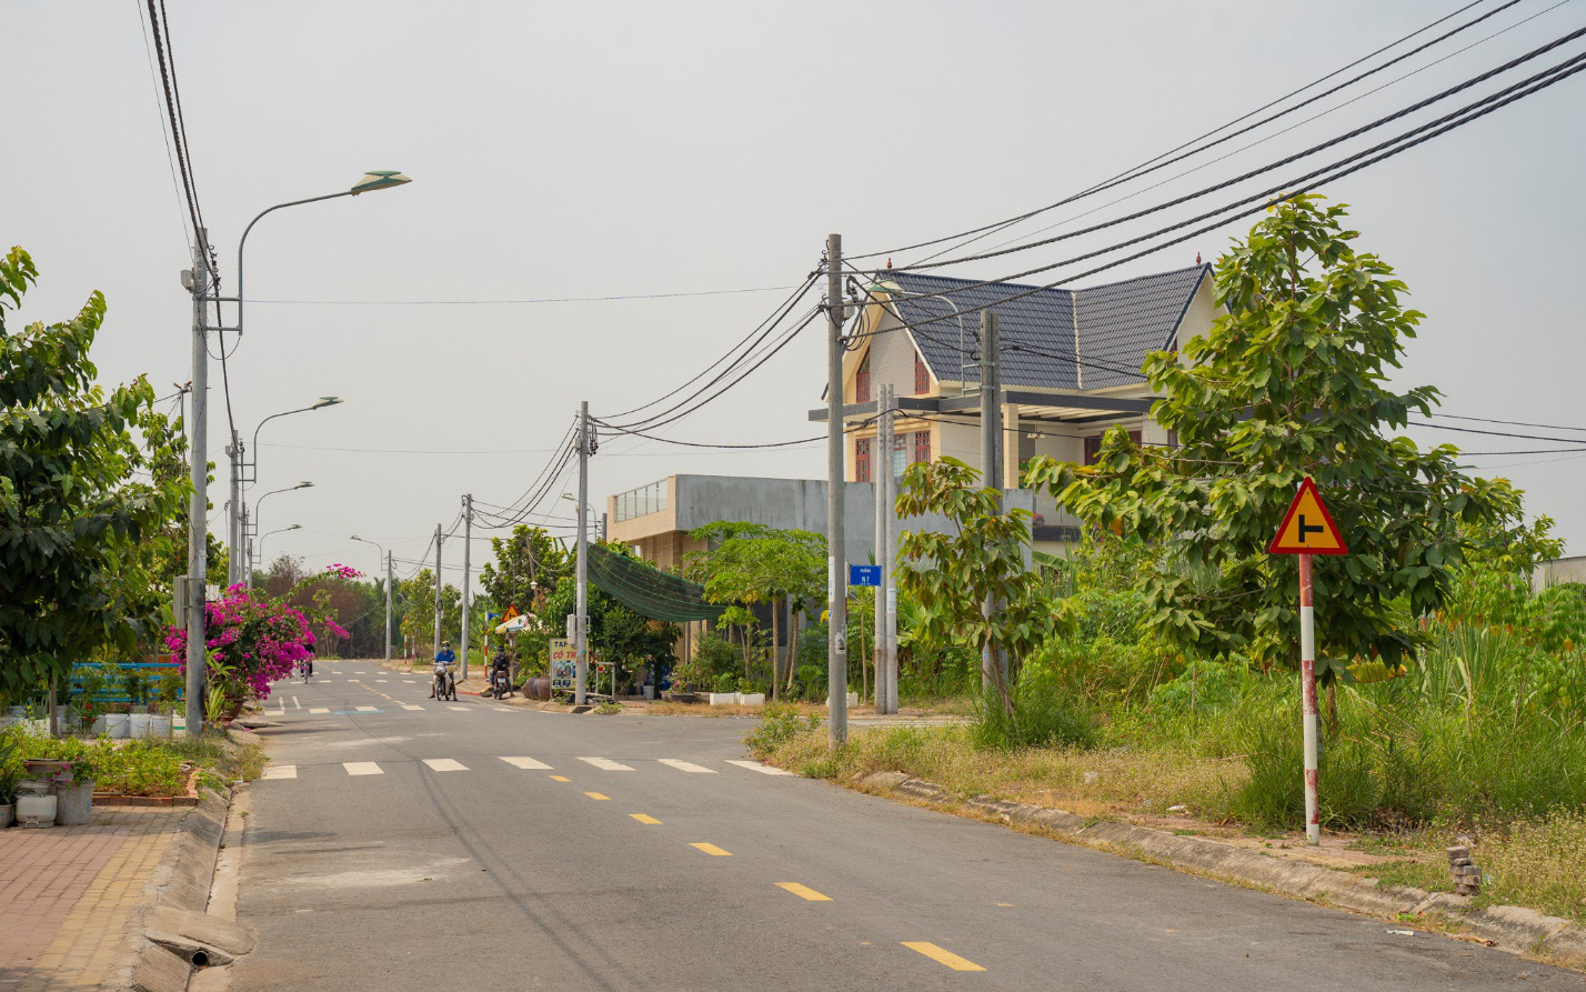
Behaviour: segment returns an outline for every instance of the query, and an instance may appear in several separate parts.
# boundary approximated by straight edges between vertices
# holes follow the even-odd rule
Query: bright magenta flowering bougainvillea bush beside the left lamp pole
[[[314,617],[320,621],[320,617]],[[346,636],[333,621],[328,627]],[[270,682],[314,657],[311,621],[295,606],[255,598],[244,586],[232,586],[225,598],[205,606],[205,646],[209,676],[216,684],[232,684],[238,697],[268,698]],[[165,646],[186,668],[187,632],[167,629]]]

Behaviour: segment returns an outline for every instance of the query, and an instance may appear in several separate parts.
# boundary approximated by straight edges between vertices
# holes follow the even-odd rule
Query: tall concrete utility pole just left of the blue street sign
[[[826,235],[826,740],[849,740],[849,576],[842,527],[842,235]]]

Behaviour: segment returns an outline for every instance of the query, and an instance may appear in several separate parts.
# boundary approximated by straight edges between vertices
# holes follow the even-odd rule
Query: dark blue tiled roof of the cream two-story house
[[[1136,370],[1145,356],[1167,348],[1210,271],[1194,265],[1088,289],[975,286],[910,271],[888,271],[882,281],[902,290],[893,302],[939,379],[980,379],[977,308],[990,303],[1002,336],[1004,386],[1105,389],[1140,381]],[[998,303],[1009,297],[1018,298]]]

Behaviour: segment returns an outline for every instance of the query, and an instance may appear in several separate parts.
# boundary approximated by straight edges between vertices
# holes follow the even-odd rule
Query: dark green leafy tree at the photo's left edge
[[[13,330],[38,279],[21,248],[0,259],[0,694],[63,678],[105,646],[151,641],[152,567],[186,483],[151,475],[170,446],[146,378],[105,390],[89,351],[105,322],[94,292],[62,324]],[[152,552],[152,554],[151,554]]]

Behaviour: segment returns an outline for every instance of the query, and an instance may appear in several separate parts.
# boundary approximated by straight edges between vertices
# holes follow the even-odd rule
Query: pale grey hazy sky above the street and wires
[[[244,436],[262,417],[320,395],[347,400],[268,424],[254,492],[316,484],[265,505],[263,530],[303,525],[270,538],[265,557],[290,552],[309,568],[365,570],[376,552],[347,535],[417,556],[436,522],[455,517],[460,494],[501,505],[519,497],[579,400],[611,414],[671,390],[787,290],[544,300],[791,287],[817,265],[826,232],[841,232],[850,252],[883,251],[1052,203],[1461,6],[168,3],[195,179],[228,290],[236,240],[260,210],[346,189],[368,168],[414,178],[262,221],[247,248],[255,303],[230,360],[232,413]],[[1497,6],[1473,5],[1416,41]],[[190,378],[190,303],[178,279],[189,259],[141,8],[136,0],[8,6],[0,241],[25,246],[43,273],[25,319],[63,319],[103,290],[102,379],[147,371],[165,395]],[[1534,19],[1519,24],[1526,17]],[[1523,0],[1216,154],[1427,67],[1418,75],[1088,221],[1280,159],[1583,24],[1578,0]],[[1488,35],[1496,37],[1454,54]],[[1567,44],[1523,75],[1581,48]],[[1586,75],[1327,189],[1351,205],[1361,244],[1397,267],[1427,314],[1397,381],[1439,386],[1445,413],[1586,427],[1583,108]],[[1439,113],[1442,105],[1405,125]],[[1304,165],[1269,184],[1308,171]],[[1213,194],[1204,208],[1237,192]],[[1112,198],[1044,214],[1006,236]],[[1194,206],[1105,240],[952,275],[1002,278]],[[1196,252],[1210,260],[1248,227],[1235,222],[1090,281],[1185,267]],[[906,257],[914,256],[898,260]],[[450,303],[458,300],[541,302]],[[806,411],[820,403],[823,376],[823,341],[810,330],[665,433],[723,443],[815,435]],[[224,460],[219,367],[211,386],[211,454]],[[1431,429],[1413,436],[1481,452],[1562,448]],[[1572,549],[1586,552],[1578,498],[1586,448],[1469,462],[1515,479],[1530,509],[1554,516]],[[820,444],[717,452],[606,438],[590,486],[603,505],[606,494],[679,471],[815,478],[823,470]],[[563,489],[571,481],[555,492]],[[219,508],[224,490],[213,498]],[[571,521],[571,503],[542,509]],[[449,565],[460,551],[449,543]],[[487,551],[476,546],[476,567]]]

